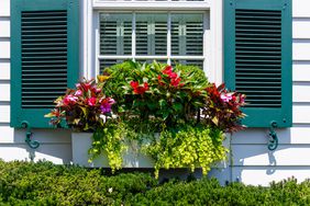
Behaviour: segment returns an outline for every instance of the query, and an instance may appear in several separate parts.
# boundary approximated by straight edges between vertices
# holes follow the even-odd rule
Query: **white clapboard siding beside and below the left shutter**
[[[71,162],[70,131],[64,129],[33,129],[32,138],[41,146],[35,151],[25,142],[25,130],[10,127],[10,0],[0,3],[0,159],[48,160],[54,163]]]

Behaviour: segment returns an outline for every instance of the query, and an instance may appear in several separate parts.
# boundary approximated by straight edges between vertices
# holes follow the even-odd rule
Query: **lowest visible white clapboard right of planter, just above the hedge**
[[[270,182],[296,178],[298,182],[310,179],[310,167],[234,167],[232,180],[245,184],[268,186]]]

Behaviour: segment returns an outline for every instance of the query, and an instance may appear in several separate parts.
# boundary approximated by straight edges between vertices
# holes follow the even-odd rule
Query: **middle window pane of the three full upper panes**
[[[167,14],[136,14],[136,55],[167,55]]]

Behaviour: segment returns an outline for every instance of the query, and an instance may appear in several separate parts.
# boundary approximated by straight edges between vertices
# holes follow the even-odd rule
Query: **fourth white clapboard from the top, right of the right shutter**
[[[292,80],[310,82],[310,59],[309,61],[294,61]]]

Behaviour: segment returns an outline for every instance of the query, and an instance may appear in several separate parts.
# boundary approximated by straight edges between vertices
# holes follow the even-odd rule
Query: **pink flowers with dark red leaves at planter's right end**
[[[236,131],[242,129],[237,119],[241,119],[245,114],[241,107],[245,105],[245,95],[237,92],[230,92],[225,89],[225,84],[218,88],[215,84],[206,89],[208,92],[207,107],[204,114],[225,131]]]

